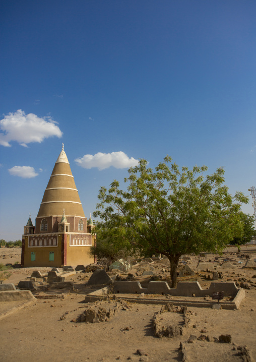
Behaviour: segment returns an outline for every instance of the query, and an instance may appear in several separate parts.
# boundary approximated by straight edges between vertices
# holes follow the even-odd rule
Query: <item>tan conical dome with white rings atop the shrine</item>
[[[64,145],[55,162],[37,217],[62,216],[63,209],[66,216],[85,217]]]

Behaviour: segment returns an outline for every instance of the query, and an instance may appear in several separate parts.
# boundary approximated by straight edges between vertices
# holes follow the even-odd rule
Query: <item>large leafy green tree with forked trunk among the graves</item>
[[[144,159],[129,169],[127,190],[114,180],[101,187],[94,212],[101,232],[113,244],[143,253],[163,254],[170,261],[172,288],[177,284],[179,258],[185,253],[220,253],[242,234],[242,193],[234,197],[224,183],[224,170],[204,176],[206,166],[182,167],[168,155],[155,171]]]

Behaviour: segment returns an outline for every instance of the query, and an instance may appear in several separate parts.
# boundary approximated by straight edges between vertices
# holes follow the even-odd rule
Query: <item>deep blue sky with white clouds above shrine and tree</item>
[[[255,14],[247,0],[2,0],[0,238],[34,223],[62,142],[87,217],[100,186],[166,154],[222,166],[249,195]]]

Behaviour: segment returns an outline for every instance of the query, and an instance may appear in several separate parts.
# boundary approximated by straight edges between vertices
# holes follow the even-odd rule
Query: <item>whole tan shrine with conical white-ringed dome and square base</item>
[[[68,157],[62,150],[55,162],[33,226],[29,216],[22,235],[22,267],[63,267],[96,262],[93,222],[87,224]]]

